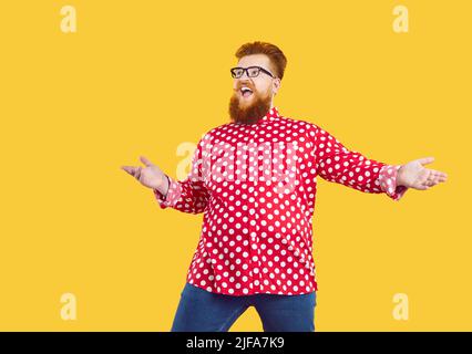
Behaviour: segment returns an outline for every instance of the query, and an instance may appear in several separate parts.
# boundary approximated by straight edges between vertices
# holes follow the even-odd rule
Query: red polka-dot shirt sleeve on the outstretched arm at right
[[[407,187],[397,186],[401,165],[370,159],[347,148],[335,136],[316,125],[312,125],[310,137],[315,145],[316,170],[321,178],[363,192],[384,192],[396,201],[406,194]]]

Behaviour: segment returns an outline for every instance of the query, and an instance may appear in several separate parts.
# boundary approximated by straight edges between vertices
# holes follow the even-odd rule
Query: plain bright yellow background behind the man
[[[76,9],[78,32],[60,30]],[[409,9],[396,33],[394,6]],[[318,331],[472,330],[470,1],[2,1],[0,330],[168,331],[203,215],[120,169],[227,123],[236,49],[288,58],[280,113],[449,175],[400,201],[319,179]],[[61,294],[76,321],[60,316]],[[409,320],[392,316],[409,296]],[[250,308],[232,331],[261,331]]]

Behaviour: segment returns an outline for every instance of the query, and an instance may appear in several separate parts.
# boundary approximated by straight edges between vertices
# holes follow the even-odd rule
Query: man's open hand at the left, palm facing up
[[[157,189],[164,196],[167,194],[168,180],[166,175],[156,165],[144,156],[140,156],[141,162],[146,166],[121,166],[126,173],[136,178],[143,186]]]

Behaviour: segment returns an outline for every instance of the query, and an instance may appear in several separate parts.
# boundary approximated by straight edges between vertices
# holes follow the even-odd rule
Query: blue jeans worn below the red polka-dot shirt
[[[265,332],[314,332],[316,292],[301,295],[224,295],[188,282],[171,332],[227,332],[247,308],[256,308]]]

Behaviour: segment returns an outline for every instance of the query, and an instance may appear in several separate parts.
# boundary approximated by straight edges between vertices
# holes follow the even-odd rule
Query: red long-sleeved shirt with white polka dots
[[[399,166],[398,166],[399,167]],[[398,200],[397,166],[347,149],[314,123],[273,107],[252,125],[228,123],[198,142],[191,173],[168,177],[162,208],[204,212],[187,281],[228,295],[318,290],[312,259],[317,176]]]

